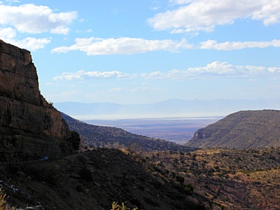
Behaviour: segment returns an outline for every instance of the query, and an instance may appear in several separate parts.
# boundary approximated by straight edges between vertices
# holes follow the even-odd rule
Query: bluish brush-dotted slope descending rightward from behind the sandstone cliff
[[[62,118],[83,139],[86,148],[130,148],[133,151],[191,151],[186,146],[162,139],[132,134],[117,127],[90,125],[62,113]]]

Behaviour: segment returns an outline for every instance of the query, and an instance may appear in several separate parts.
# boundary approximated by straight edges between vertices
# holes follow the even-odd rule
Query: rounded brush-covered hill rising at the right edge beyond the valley
[[[186,146],[266,148],[280,146],[280,111],[239,111],[195,132]]]

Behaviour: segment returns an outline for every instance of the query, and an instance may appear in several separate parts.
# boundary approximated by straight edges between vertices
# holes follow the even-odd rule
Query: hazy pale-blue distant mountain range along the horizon
[[[227,116],[241,110],[280,109],[280,99],[181,100],[154,104],[59,102],[55,108],[79,120],[121,118],[194,118]]]

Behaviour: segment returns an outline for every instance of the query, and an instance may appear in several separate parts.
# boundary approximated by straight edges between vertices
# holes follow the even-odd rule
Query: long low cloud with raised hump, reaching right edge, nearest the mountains
[[[155,71],[151,73],[143,73],[146,79],[169,79],[169,80],[185,80],[185,79],[203,79],[214,76],[223,76],[229,78],[254,77],[261,73],[280,73],[280,67],[265,66],[235,66],[228,62],[212,62],[204,67],[189,68],[187,70],[167,71],[166,73]]]

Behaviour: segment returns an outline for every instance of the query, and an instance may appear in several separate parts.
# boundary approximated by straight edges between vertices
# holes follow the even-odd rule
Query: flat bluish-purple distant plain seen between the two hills
[[[120,120],[83,120],[91,125],[119,127],[133,134],[156,139],[165,139],[176,144],[185,144],[193,134],[222,117],[212,118],[143,118]]]

